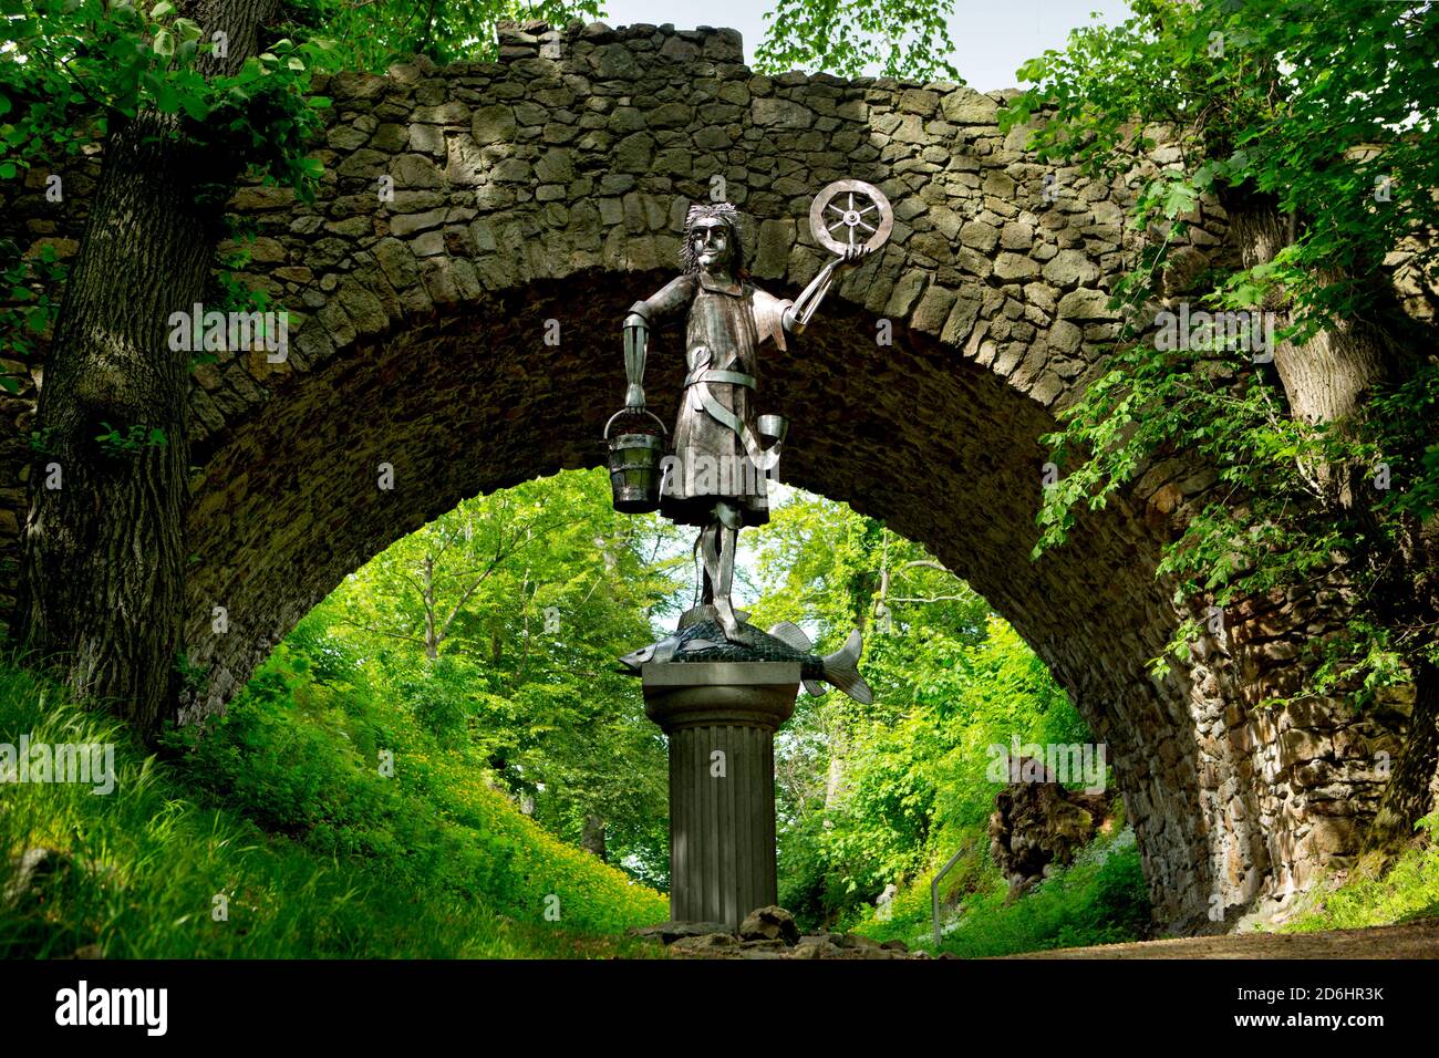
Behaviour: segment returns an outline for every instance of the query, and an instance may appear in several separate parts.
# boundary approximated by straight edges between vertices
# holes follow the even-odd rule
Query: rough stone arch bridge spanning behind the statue
[[[891,199],[894,236],[763,366],[766,409],[791,420],[784,478],[922,541],[1033,645],[1108,744],[1161,923],[1206,928],[1215,913],[1282,904],[1353,852],[1380,785],[1367,761],[1393,734],[1328,702],[1258,708],[1337,615],[1255,603],[1189,668],[1145,669],[1177,620],[1156,559],[1203,474],[1156,465],[1072,544],[1029,560],[1039,438],[1115,334],[1107,291],[1135,249],[1132,193],[1026,155],[1023,131],[999,132],[1003,94],[758,76],[732,30],[602,24],[502,27],[498,62],[401,65],[321,91],[334,105],[318,200],[246,186],[232,203],[258,236],[249,281],[292,311],[289,357],[220,354],[194,371],[200,708],[222,708],[401,534],[466,497],[602,461],[623,394],[620,321],[675,273],[688,203],[722,180],[755,279],[793,297],[826,259],[810,200],[853,177]],[[95,166],[63,206],[32,174],[4,225],[73,252]],[[1222,214],[1196,219],[1191,252],[1223,252]],[[881,320],[892,344],[876,341]],[[678,390],[679,364],[661,331],[656,400]],[[10,594],[33,399],[33,384],[4,399]],[[213,606],[226,635],[212,633]]]

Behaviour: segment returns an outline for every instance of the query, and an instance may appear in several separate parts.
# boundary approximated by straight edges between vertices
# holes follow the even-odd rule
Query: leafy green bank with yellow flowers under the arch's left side
[[[544,926],[551,894],[567,930],[663,917],[653,892],[521,816],[484,756],[439,744],[355,654],[325,649],[317,674],[282,645],[206,737],[176,736],[191,789],[317,856],[383,864],[404,891],[478,894],[519,923]]]

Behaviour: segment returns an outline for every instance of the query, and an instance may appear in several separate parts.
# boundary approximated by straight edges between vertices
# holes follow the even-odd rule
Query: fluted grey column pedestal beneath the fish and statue
[[[800,666],[668,662],[642,677],[645,713],[669,736],[669,917],[737,930],[778,900],[774,731]]]

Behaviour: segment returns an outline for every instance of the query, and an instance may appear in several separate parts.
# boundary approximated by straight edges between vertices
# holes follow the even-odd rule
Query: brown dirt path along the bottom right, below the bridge
[[[1066,947],[1010,959],[1439,959],[1439,918],[1327,933],[1246,933]]]

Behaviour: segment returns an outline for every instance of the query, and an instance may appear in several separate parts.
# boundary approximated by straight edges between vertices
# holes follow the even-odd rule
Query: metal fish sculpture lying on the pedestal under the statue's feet
[[[814,645],[804,630],[781,620],[768,632],[761,632],[747,622],[740,623],[740,638],[735,643],[725,639],[724,630],[714,620],[699,620],[689,628],[665,636],[658,643],[642,646],[620,658],[622,672],[637,677],[649,664],[692,662],[692,661],[787,661],[797,662],[804,689],[819,697],[826,694],[822,684],[833,684],[862,705],[873,702],[873,691],[859,675],[859,651],[862,641],[859,629],[849,633],[845,645],[827,656],[814,654]]]

